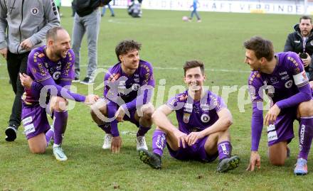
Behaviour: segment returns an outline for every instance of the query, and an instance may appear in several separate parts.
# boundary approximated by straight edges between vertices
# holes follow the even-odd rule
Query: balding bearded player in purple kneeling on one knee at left
[[[61,148],[68,122],[67,99],[92,104],[98,97],[92,94],[85,97],[69,90],[74,79],[75,57],[68,32],[60,27],[51,28],[46,44],[31,51],[27,75],[20,74],[26,87],[22,98],[24,133],[32,153],[44,153],[53,137],[53,154],[57,160],[64,161],[68,159]],[[48,106],[44,91],[50,95]],[[47,112],[53,116],[54,129],[48,123]]]

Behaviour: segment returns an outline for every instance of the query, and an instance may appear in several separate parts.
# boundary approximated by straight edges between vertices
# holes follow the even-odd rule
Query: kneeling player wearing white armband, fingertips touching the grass
[[[307,174],[307,156],[313,138],[313,101],[302,60],[296,53],[276,53],[272,42],[260,37],[245,41],[245,63],[252,70],[248,85],[253,103],[251,154],[247,170],[260,168],[258,146],[263,127],[262,90],[271,99],[265,115],[268,156],[272,165],[284,165],[294,138],[293,122],[299,120],[299,155],[295,175]]]

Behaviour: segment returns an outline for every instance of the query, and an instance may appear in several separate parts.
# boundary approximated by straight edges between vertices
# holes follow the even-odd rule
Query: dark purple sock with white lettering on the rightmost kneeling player
[[[299,155],[298,158],[307,160],[313,138],[313,116],[302,117],[299,126]]]

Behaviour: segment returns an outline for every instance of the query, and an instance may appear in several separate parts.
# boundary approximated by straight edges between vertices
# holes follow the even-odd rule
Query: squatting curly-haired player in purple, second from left
[[[119,62],[105,74],[105,98],[92,106],[92,119],[106,133],[102,148],[111,148],[113,153],[119,153],[122,146],[117,129],[117,123],[122,121],[139,127],[137,150],[148,149],[144,135],[152,126],[154,107],[150,99],[155,82],[152,65],[139,60],[140,48],[141,44],[134,40],[122,40],[116,46]]]

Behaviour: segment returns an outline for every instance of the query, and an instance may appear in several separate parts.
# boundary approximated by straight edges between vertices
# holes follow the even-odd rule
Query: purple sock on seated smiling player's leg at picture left
[[[166,146],[166,133],[161,130],[155,130],[152,136],[152,151],[162,156]]]

